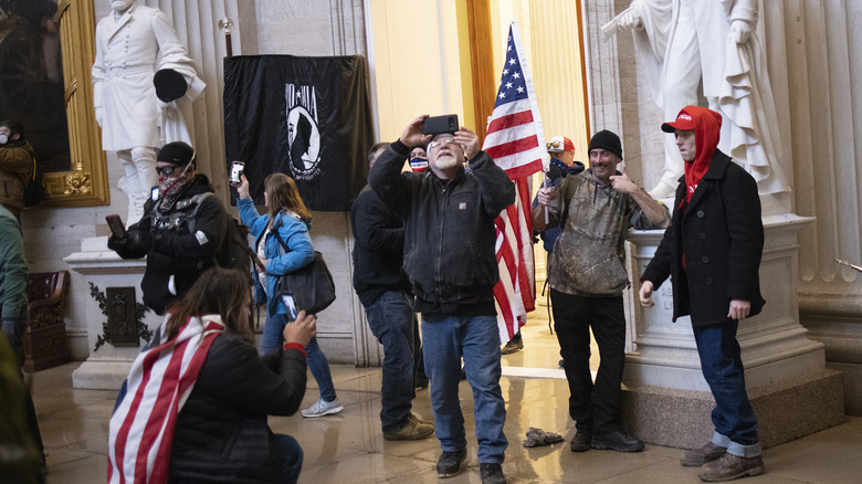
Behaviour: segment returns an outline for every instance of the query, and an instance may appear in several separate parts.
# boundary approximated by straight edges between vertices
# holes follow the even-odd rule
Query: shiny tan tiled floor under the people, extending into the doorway
[[[543,311],[540,308],[539,311]],[[612,451],[572,453],[568,441],[575,432],[567,415],[568,388],[557,368],[556,336],[546,324],[524,328],[524,351],[503,357],[501,382],[507,402],[505,432],[509,441],[503,470],[509,483],[695,483],[697,470],[682,467],[679,449],[646,445],[635,454]],[[595,351],[597,353],[597,351]],[[49,454],[50,484],[88,484],[105,481],[107,422],[116,392],[77,390],[71,373],[80,364],[41,371],[33,378],[33,394]],[[539,369],[535,371],[532,369]],[[545,378],[523,375],[540,373]],[[294,435],[305,451],[301,483],[431,483],[440,449],[435,439],[389,442],[382,439],[380,370],[334,366],[341,414],[320,419],[272,418],[275,432]],[[556,378],[555,378],[556,377]],[[317,398],[314,379],[304,407]],[[479,483],[473,434],[473,400],[466,382],[461,404],[467,427],[469,456],[462,474],[442,482]],[[414,410],[431,417],[428,390],[419,392]],[[529,427],[557,432],[566,442],[525,449]],[[860,483],[862,482],[862,418],[818,432],[764,453],[767,473],[751,483]],[[2,482],[0,476],[0,482]]]

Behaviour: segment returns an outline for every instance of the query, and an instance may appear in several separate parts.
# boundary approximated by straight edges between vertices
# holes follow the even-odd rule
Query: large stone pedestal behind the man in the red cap
[[[840,385],[835,386],[840,377],[826,370],[823,345],[808,339],[799,324],[797,232],[812,220],[795,214],[764,219],[760,288],[766,306],[761,314],[743,320],[737,334],[746,387],[760,428],[764,432],[779,428],[769,431],[769,439],[761,435],[766,446],[834,425],[844,418],[843,393]],[[662,235],[662,231],[631,233],[632,281],[640,280]],[[637,283],[632,290],[637,294]],[[637,349],[627,355],[623,383],[628,407],[635,411],[627,410],[626,423],[646,442],[698,446],[712,435],[709,411],[714,401],[701,372],[691,320],[684,317],[671,322],[670,281],[653,293],[653,301],[654,307],[637,305],[634,309]],[[798,397],[793,406],[809,409],[810,419],[792,422],[793,428],[784,431],[781,424],[787,422],[777,421],[787,406],[781,396],[795,392]]]

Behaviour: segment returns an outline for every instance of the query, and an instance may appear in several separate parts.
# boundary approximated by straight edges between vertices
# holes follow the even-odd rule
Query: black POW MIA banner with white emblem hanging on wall
[[[255,204],[266,176],[284,172],[311,210],[349,210],[366,183],[371,123],[361,55],[224,59],[228,172],[245,162]]]

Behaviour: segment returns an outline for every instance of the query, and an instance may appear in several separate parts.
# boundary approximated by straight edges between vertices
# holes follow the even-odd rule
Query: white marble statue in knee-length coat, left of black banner
[[[96,27],[93,97],[102,148],[116,151],[126,171],[126,223],[132,224],[140,219],[150,189],[158,185],[158,148],[171,141],[192,144],[177,103],[191,103],[206,84],[165,13],[135,0],[108,2],[112,13]],[[186,80],[182,98],[164,103],[156,97],[153,76],[160,69],[172,69]]]

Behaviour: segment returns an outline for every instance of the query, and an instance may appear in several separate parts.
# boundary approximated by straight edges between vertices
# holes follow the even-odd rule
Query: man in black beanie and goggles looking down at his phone
[[[156,158],[159,196],[144,206],[144,217],[126,236],[112,233],[108,248],[123,259],[147,256],[140,290],[144,304],[156,314],[182,297],[216,254],[228,230],[228,212],[206,175],[196,170],[195,149],[182,143],[165,145]]]

